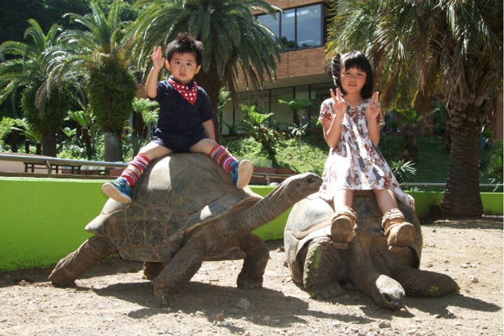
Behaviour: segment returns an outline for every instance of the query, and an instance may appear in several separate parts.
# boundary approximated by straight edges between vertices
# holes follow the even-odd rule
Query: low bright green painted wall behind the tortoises
[[[84,226],[107,201],[103,180],[0,177],[0,271],[50,267],[90,234]],[[259,195],[272,188],[252,186]],[[419,217],[428,215],[442,193],[411,192]],[[482,193],[485,214],[503,214],[503,193]],[[289,211],[254,231],[264,240],[282,239]]]

